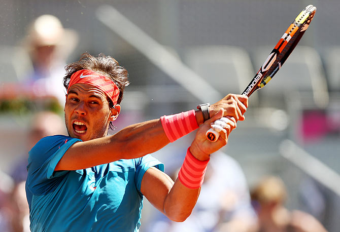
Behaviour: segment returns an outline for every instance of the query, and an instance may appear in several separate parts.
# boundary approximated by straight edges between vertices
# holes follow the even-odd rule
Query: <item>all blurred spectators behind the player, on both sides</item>
[[[62,86],[65,60],[76,43],[77,34],[63,28],[59,19],[52,15],[38,17],[28,28],[23,43],[32,69],[21,82],[15,83],[16,89],[38,97],[56,98],[62,107],[65,101]],[[45,136],[65,133],[60,114],[43,110],[32,116],[26,152],[9,169],[10,173],[0,172],[0,232],[29,231],[29,209],[25,195],[28,151]],[[173,179],[177,178],[178,168],[172,170]],[[266,177],[250,188],[242,167],[227,154],[217,152],[212,155],[192,215],[185,222],[177,223],[158,213],[142,225],[141,231],[326,231],[312,214],[288,210],[285,207],[287,197],[280,177]]]

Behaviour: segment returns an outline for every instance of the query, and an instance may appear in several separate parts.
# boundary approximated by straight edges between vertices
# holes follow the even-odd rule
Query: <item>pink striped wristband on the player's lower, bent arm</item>
[[[187,150],[183,165],[178,173],[178,179],[188,188],[199,188],[204,180],[204,175],[207,170],[209,160],[197,160],[190,152],[190,147]]]

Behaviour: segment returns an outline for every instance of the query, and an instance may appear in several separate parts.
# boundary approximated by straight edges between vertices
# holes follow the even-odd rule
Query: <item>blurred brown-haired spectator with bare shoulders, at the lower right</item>
[[[258,214],[258,232],[326,232],[312,215],[289,211],[284,207],[287,197],[283,181],[275,176],[261,180],[251,191],[253,206]]]

